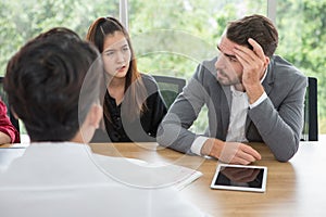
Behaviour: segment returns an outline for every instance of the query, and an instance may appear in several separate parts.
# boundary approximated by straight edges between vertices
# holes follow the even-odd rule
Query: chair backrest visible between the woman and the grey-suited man
[[[159,85],[161,95],[168,108],[186,86],[186,79],[159,75],[153,75],[153,77]]]

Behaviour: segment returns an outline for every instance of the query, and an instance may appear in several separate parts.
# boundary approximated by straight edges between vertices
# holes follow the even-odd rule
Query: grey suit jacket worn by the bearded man
[[[179,152],[190,151],[196,135],[188,130],[199,112],[208,106],[209,127],[205,137],[226,139],[231,92],[216,79],[216,58],[204,61],[178,95],[158,131],[158,142]],[[263,87],[268,98],[248,108],[246,137],[264,142],[278,161],[290,159],[298,151],[302,125],[306,77],[278,55],[271,59]]]

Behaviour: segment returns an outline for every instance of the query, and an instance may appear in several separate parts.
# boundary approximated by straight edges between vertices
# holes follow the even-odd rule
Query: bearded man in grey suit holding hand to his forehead
[[[261,159],[246,142],[264,142],[276,159],[298,151],[303,125],[306,77],[274,52],[278,33],[262,15],[230,22],[217,49],[178,95],[159,131],[158,142],[187,154],[234,164]],[[209,128],[189,130],[203,105]]]

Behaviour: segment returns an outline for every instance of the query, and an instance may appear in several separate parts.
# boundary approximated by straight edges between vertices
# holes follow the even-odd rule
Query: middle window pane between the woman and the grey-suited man
[[[141,72],[189,79],[196,66],[217,54],[228,21],[259,13],[266,0],[129,0],[129,31]],[[203,110],[192,125],[208,126]]]

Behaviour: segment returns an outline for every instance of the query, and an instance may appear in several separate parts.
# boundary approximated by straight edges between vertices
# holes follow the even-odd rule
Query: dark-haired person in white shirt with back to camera
[[[32,142],[0,174],[1,216],[204,216],[171,188],[122,183],[99,164],[130,173],[116,165],[124,158],[86,144],[103,113],[102,76],[97,49],[66,28],[39,35],[10,60],[4,89]]]

